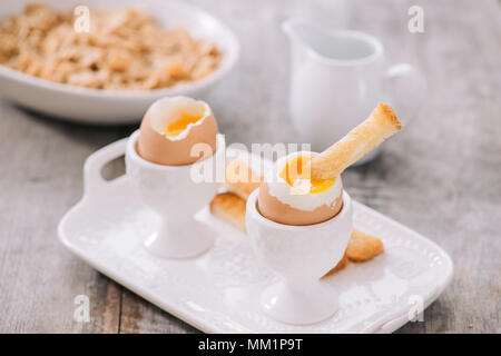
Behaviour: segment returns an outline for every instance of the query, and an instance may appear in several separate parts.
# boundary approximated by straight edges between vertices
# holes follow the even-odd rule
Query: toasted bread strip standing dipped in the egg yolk
[[[401,123],[393,109],[386,103],[377,103],[365,121],[325,151],[312,158],[312,178],[337,177],[400,129]]]

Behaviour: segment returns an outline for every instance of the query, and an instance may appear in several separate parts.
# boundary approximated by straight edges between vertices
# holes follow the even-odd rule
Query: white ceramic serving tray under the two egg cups
[[[258,303],[259,291],[276,277],[258,265],[248,237],[208,209],[197,218],[219,236],[205,255],[168,260],[143,247],[156,216],[140,204],[127,176],[106,181],[100,175],[125,147],[120,140],[88,158],[85,195],[61,219],[59,238],[102,274],[203,332],[391,333],[409,322],[415,303],[426,307],[436,299],[452,277],[452,260],[438,245],[354,201],[355,227],[382,238],[385,253],[326,279],[340,291],[340,310],[331,319],[281,324]]]

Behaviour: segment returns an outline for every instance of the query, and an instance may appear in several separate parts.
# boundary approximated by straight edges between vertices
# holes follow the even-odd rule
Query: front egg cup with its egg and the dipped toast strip
[[[313,324],[337,309],[335,290],[320,280],[346,250],[352,201],[341,174],[401,123],[379,103],[369,118],[321,154],[278,159],[247,200],[246,229],[261,260],[283,278],[261,295],[263,309],[287,324]]]

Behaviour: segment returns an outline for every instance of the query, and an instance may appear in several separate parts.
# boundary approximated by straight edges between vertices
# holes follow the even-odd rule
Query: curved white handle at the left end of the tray
[[[101,175],[102,167],[114,159],[124,156],[127,147],[127,138],[102,147],[90,155],[84,165],[84,192],[86,196],[100,195],[106,191],[109,181]]]

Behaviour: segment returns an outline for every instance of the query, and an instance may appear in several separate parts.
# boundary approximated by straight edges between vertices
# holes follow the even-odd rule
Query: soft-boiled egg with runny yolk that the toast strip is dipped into
[[[341,177],[311,179],[307,162],[316,155],[294,152],[278,159],[259,187],[257,208],[267,219],[285,225],[313,225],[340,212]]]

